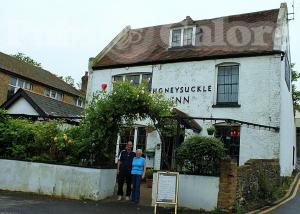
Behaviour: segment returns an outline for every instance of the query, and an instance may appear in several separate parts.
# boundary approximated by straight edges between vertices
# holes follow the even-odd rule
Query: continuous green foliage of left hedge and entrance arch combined
[[[164,127],[172,103],[151,94],[146,84],[115,83],[111,93],[96,95],[79,126],[62,130],[58,121],[10,119],[0,111],[0,156],[67,164],[113,165],[117,134],[135,120],[150,118]],[[165,123],[166,124],[166,123]],[[168,123],[169,124],[169,123]]]

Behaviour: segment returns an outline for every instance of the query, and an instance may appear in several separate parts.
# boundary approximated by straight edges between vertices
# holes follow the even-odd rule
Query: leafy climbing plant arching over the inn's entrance
[[[114,160],[118,132],[131,126],[134,121],[150,119],[160,129],[164,116],[171,115],[173,103],[162,94],[151,93],[147,85],[134,87],[130,82],[115,82],[113,89],[94,96],[86,108],[86,133],[95,154],[95,163],[109,163]]]

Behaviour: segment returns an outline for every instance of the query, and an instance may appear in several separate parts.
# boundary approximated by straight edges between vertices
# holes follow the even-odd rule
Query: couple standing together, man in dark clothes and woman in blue
[[[136,153],[132,151],[132,142],[128,141],[126,149],[121,151],[118,159],[118,200],[122,200],[123,185],[126,181],[126,200],[139,203],[140,186],[145,177],[146,161],[142,157],[142,150],[137,149]],[[131,191],[132,185],[132,191]]]

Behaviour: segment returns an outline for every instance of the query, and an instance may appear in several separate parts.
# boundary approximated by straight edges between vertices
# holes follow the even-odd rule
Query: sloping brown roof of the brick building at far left
[[[82,93],[51,72],[42,68],[22,62],[15,57],[0,52],[0,70],[36,81],[59,91],[67,92],[75,96],[82,96]]]

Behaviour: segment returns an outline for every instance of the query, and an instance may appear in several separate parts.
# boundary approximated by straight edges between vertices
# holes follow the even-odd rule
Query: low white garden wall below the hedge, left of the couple
[[[0,189],[72,199],[100,200],[112,196],[115,169],[32,163],[0,159]]]

